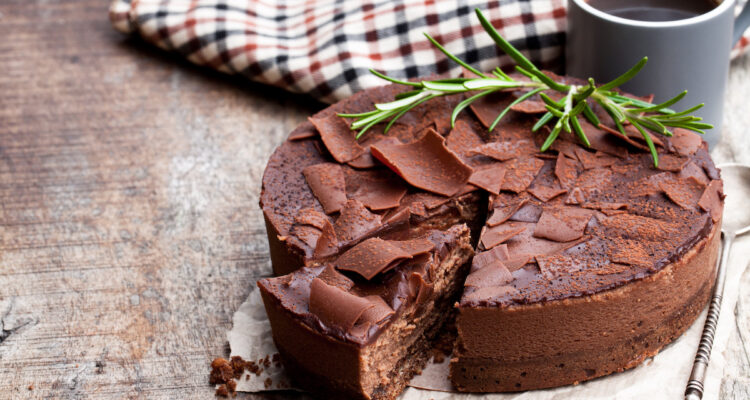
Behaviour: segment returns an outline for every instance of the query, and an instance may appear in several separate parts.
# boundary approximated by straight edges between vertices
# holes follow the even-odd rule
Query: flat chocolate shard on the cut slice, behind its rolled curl
[[[347,250],[335,262],[338,269],[353,271],[370,280],[375,275],[388,271],[398,260],[411,258],[411,255],[389,241],[371,238]]]

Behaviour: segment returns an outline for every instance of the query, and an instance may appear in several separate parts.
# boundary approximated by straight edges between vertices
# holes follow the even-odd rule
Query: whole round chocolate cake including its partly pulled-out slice
[[[402,90],[321,111],[268,162],[261,207],[279,277],[258,285],[297,385],[395,398],[454,311],[451,380],[467,392],[632,368],[695,320],[723,207],[698,135],[653,135],[655,168],[632,126],[624,136],[582,121],[590,146],[563,131],[540,152],[538,97],[488,132],[519,92],[485,96],[453,127],[463,98],[439,97],[359,140],[336,115]]]

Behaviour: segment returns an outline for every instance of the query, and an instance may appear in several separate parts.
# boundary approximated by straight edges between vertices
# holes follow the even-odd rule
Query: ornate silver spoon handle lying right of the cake
[[[698,352],[695,354],[693,361],[693,370],[690,373],[685,388],[685,400],[700,400],[703,398],[703,383],[706,378],[708,362],[711,359],[711,348],[714,345],[714,335],[716,335],[716,326],[719,323],[719,313],[721,313],[721,300],[724,295],[724,283],[726,282],[726,264],[729,260],[729,250],[732,247],[734,234],[724,234],[724,244],[719,261],[719,270],[716,272],[716,284],[714,285],[711,304],[708,306],[708,315],[703,325],[703,334],[698,345]]]

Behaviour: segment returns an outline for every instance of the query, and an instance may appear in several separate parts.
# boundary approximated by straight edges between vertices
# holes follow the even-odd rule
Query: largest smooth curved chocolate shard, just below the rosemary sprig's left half
[[[372,155],[419,189],[452,196],[463,189],[472,168],[445,146],[435,130],[407,144],[376,143]]]

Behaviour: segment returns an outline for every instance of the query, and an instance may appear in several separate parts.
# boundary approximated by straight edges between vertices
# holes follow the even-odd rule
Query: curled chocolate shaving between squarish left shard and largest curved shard
[[[406,186],[386,169],[352,171],[346,176],[349,198],[357,199],[373,211],[398,207],[406,194]]]

